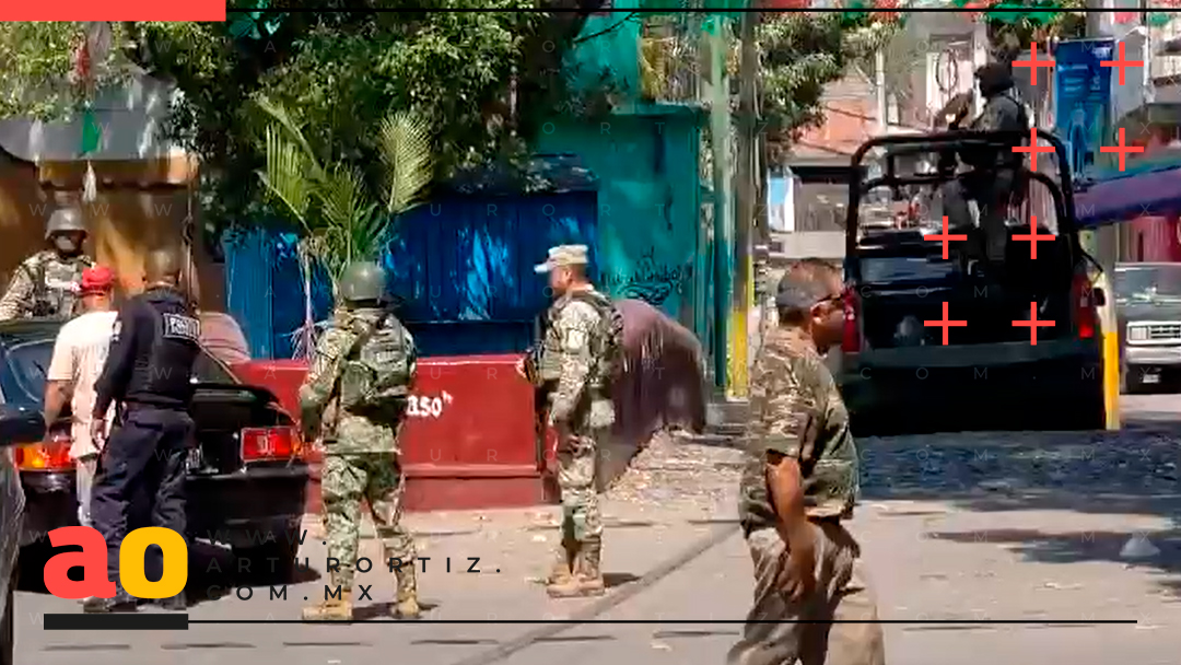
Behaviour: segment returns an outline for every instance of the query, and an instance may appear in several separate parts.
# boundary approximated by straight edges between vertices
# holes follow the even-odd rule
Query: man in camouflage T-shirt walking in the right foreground
[[[755,606],[727,664],[881,665],[877,611],[842,526],[856,500],[857,449],[821,356],[842,332],[836,270],[802,261],[781,281],[776,308],[779,325],[751,377],[739,500]]]

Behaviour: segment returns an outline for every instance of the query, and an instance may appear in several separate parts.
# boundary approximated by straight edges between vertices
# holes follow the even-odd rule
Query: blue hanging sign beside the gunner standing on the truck
[[[1111,125],[1114,39],[1062,41],[1053,52],[1055,126],[1066,144],[1070,170],[1088,175],[1100,165],[1100,148]]]

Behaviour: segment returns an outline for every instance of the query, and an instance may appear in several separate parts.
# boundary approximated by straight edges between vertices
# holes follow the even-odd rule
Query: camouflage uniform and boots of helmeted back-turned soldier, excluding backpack
[[[399,463],[398,430],[400,418],[377,419],[350,413],[339,405],[345,361],[355,352],[358,338],[381,319],[392,319],[384,309],[357,308],[340,311],[334,326],[326,331],[315,348],[315,359],[300,387],[300,408],[305,429],[322,423],[324,467],[320,474],[328,556],[339,561],[331,572],[331,583],[322,602],[308,607],[307,620],[350,620],[352,617],[353,576],[360,537],[361,500],[381,541],[383,561],[372,562],[373,571],[394,566],[398,582],[396,618],[417,618],[418,588],[415,575],[415,541],[402,524],[402,498],[405,477]],[[398,325],[413,376],[416,352],[410,333]],[[315,428],[315,425],[312,425]],[[392,563],[391,563],[392,560]],[[337,589],[339,598],[334,598]]]

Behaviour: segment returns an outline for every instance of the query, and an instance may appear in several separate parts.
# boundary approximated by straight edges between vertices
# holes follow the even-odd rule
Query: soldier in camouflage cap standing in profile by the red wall
[[[546,319],[536,382],[547,391],[548,424],[557,430],[557,484],[562,539],[547,591],[554,598],[601,595],[602,517],[595,482],[599,442],[614,423],[606,325],[614,308],[587,280],[587,248],[549,250],[536,267],[549,274],[554,304]],[[534,374],[534,372],[526,372]]]

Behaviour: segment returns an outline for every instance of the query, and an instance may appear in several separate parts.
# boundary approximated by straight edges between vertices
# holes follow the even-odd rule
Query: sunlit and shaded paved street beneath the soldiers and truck
[[[892,624],[889,663],[1179,663],[1181,422],[1167,417],[1181,413],[1181,396],[1124,403],[1128,428],[1117,433],[862,442],[863,502],[850,528],[862,542],[882,619],[1138,621]],[[606,599],[544,596],[537,580],[552,547],[554,509],[411,516],[422,554],[431,558],[420,575],[429,618],[581,624],[198,624],[184,633],[54,633],[40,628],[40,615],[77,612],[77,604],[25,591],[17,600],[18,663],[719,664],[750,594],[750,563],[733,523],[738,459],[736,450],[709,442],[660,442],[641,454],[605,503],[612,586]],[[377,560],[374,546],[367,540],[363,547]],[[322,534],[311,521],[304,555],[322,568],[315,565],[325,558]],[[474,556],[479,574],[458,572]],[[205,553],[195,565],[190,585],[252,583],[217,572],[230,571],[224,554]],[[372,601],[360,604],[364,618],[380,618],[393,595],[389,576],[376,571],[360,576],[372,585]],[[255,587],[250,600],[207,588],[190,617],[296,619],[304,596],[322,583],[311,572],[278,600],[268,599],[266,586]],[[684,620],[703,622],[674,622]]]

